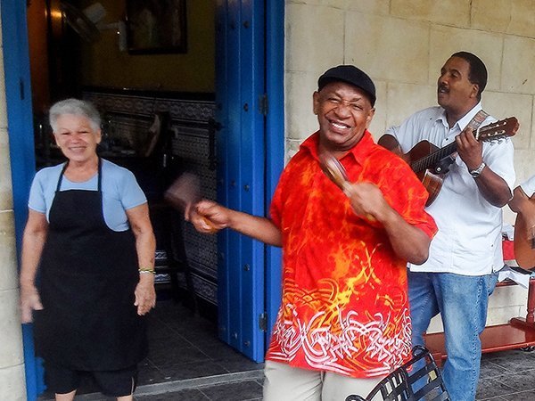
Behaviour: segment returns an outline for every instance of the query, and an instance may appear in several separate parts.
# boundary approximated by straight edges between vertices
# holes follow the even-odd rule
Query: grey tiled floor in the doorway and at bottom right
[[[150,316],[151,350],[140,366],[136,401],[261,400],[263,364],[217,339],[216,325],[172,300]],[[109,401],[90,384],[78,401]],[[40,401],[52,399],[50,395]],[[486,354],[477,400],[535,401],[535,352]],[[341,400],[343,401],[343,400]]]

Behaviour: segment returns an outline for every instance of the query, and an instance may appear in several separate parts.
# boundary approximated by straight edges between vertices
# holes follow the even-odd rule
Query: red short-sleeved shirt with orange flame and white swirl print
[[[284,168],[271,205],[283,234],[283,300],[266,358],[366,378],[410,358],[407,262],[383,226],[358,217],[322,172],[318,133]],[[432,237],[427,192],[408,165],[366,131],[340,160],[351,182],[370,182],[410,225]]]

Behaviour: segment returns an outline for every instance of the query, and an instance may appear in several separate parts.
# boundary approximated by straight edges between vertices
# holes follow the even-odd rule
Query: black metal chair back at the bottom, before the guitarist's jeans
[[[438,366],[427,348],[416,346],[413,358],[380,381],[366,398],[351,395],[345,401],[447,401]],[[416,383],[417,382],[417,383]],[[426,383],[421,385],[420,383]]]

